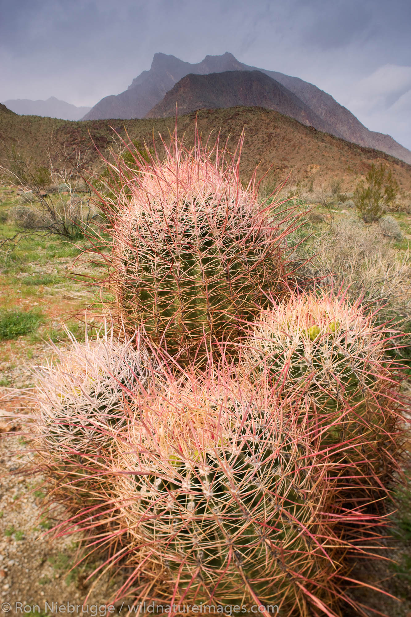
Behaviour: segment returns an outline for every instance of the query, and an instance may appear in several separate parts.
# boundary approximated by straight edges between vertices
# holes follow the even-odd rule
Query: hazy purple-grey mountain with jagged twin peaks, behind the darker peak
[[[144,118],[165,94],[189,73],[207,75],[226,71],[255,70],[278,81],[310,107],[323,123],[322,125],[313,124],[317,130],[323,130],[322,126],[326,123],[330,127],[328,132],[331,135],[342,137],[361,146],[378,148],[411,164],[411,152],[407,148],[401,146],[389,135],[368,130],[346,107],[340,105],[330,94],[320,90],[317,86],[298,77],[290,77],[283,73],[243,64],[228,52],[223,56],[205,56],[204,60],[197,64],[183,62],[175,56],[155,54],[150,70],[143,71],[124,92],[101,99],[83,117],[83,120]]]

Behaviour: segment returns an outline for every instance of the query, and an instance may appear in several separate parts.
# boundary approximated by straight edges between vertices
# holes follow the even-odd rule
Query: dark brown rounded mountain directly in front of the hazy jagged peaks
[[[190,73],[169,90],[146,118],[167,118],[188,114],[196,109],[218,109],[236,106],[265,107],[291,116],[306,126],[316,126],[331,133],[324,122],[294,93],[260,71],[225,71],[194,75]]]

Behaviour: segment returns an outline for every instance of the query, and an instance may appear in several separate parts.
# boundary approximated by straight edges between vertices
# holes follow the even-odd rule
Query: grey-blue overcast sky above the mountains
[[[156,52],[301,77],[411,149],[410,0],[0,0],[0,101],[93,106]]]

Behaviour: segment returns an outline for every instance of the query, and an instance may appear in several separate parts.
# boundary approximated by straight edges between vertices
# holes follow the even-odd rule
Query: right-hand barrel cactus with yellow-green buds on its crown
[[[252,381],[268,375],[278,395],[299,401],[300,421],[318,444],[351,443],[349,460],[380,486],[401,423],[400,381],[387,347],[360,302],[342,293],[301,293],[262,312],[243,363]]]

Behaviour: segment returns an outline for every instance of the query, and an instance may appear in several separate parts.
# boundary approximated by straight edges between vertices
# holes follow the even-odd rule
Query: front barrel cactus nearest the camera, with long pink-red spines
[[[143,577],[137,603],[336,614],[350,543],[334,528],[359,513],[339,510],[330,458],[290,402],[262,390],[221,371],[169,383],[117,437],[112,482],[129,565]]]

